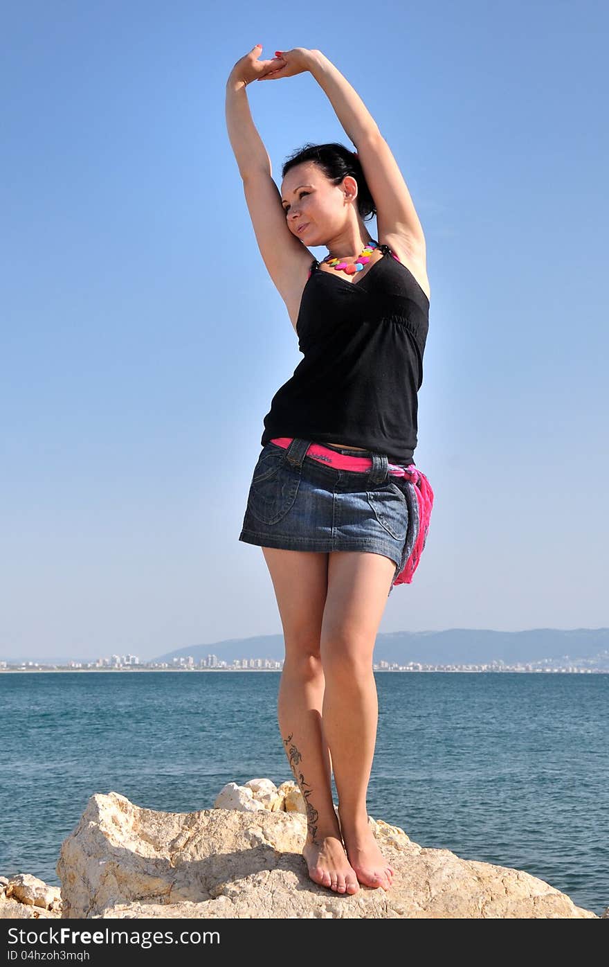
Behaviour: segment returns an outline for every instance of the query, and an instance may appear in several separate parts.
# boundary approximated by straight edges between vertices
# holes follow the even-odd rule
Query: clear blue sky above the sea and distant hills
[[[281,630],[238,541],[302,358],[225,128],[256,43],[333,61],[425,231],[435,505],[380,630],[609,625],[608,21],[523,0],[3,6],[0,659]],[[310,74],[248,97],[277,183],[305,141],[351,146]]]

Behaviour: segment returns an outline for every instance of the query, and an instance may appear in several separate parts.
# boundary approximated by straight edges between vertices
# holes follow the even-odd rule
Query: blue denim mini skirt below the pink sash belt
[[[371,459],[369,470],[344,470],[307,456],[312,445],[294,438],[287,448],[272,442],[263,447],[239,540],[285,550],[383,554],[395,565],[391,594],[418,536],[414,484],[390,476],[385,454],[359,452]]]

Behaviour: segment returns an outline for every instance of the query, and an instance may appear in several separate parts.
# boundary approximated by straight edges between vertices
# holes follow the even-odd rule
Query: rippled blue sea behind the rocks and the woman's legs
[[[168,812],[292,774],[278,672],[0,674],[0,875],[59,886],[94,793]],[[609,675],[376,673],[368,813],[425,847],[609,905]],[[334,802],[336,802],[334,790]]]

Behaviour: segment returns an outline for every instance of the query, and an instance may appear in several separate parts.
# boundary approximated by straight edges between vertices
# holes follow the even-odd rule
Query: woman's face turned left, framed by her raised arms
[[[315,161],[295,165],[281,184],[288,228],[305,246],[325,245],[327,239],[342,231],[354,212],[357,218],[356,193],[357,182],[351,175],[346,175],[340,185],[333,185]]]

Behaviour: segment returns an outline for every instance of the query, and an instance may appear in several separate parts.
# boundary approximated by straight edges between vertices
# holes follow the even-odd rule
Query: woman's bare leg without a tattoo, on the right
[[[384,890],[391,887],[393,870],[368,825],[366,791],[378,721],[372,653],[394,571],[382,554],[333,551],[321,630],[324,732],[342,838],[360,883]]]

